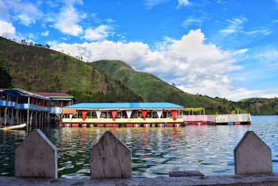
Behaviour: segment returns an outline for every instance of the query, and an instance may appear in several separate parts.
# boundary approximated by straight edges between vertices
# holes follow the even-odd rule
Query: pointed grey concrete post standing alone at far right
[[[234,149],[236,174],[272,173],[271,149],[253,131],[247,131]]]

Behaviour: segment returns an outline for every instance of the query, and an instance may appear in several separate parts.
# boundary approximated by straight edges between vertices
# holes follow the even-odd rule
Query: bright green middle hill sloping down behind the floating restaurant
[[[227,114],[231,110],[244,112],[243,109],[225,99],[185,93],[154,75],[133,70],[122,61],[103,60],[92,62],[90,65],[103,70],[109,77],[119,80],[133,92],[138,93],[146,102],[173,102],[186,107],[205,107],[208,114]]]

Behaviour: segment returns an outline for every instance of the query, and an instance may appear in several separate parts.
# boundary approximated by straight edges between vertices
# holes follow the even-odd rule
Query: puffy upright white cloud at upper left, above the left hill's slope
[[[85,15],[79,15],[72,6],[66,6],[60,9],[60,13],[55,24],[56,29],[71,36],[79,36],[83,32],[82,26],[78,23]]]

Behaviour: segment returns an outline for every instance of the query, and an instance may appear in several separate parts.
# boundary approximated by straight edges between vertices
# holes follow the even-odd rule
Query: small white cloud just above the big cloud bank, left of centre
[[[99,25],[95,29],[86,29],[83,38],[87,40],[102,40],[113,34],[113,28],[108,25]]]

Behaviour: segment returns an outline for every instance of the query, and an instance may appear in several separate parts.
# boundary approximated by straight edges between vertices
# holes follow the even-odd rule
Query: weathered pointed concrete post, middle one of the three
[[[90,178],[131,178],[131,150],[106,131],[90,151]]]

